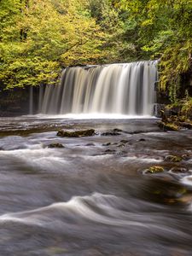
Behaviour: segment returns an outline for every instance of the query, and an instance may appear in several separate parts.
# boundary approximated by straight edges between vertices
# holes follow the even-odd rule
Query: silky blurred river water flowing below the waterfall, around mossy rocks
[[[191,255],[191,132],[156,121],[0,119],[0,255]],[[57,137],[61,127],[96,135]],[[144,172],[154,165],[165,172]]]

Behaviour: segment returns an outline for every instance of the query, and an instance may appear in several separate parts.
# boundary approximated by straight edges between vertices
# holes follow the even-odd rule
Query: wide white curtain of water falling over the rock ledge
[[[68,67],[39,94],[39,112],[153,115],[157,61]]]

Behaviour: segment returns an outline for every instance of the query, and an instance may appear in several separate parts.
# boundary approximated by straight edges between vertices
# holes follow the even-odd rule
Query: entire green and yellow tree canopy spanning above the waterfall
[[[172,101],[192,67],[192,0],[0,0],[1,88],[73,65],[160,60]]]

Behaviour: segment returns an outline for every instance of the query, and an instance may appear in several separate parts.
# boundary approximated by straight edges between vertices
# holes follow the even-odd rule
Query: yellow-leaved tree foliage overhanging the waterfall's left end
[[[4,87],[55,84],[61,67],[102,58],[103,32],[82,3],[1,1],[0,81]]]

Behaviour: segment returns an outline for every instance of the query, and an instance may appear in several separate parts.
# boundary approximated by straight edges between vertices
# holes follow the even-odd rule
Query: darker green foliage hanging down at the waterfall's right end
[[[160,59],[160,90],[169,90],[175,102],[182,85],[181,75],[192,71],[192,1],[124,0],[119,3],[131,19],[137,20],[137,45],[141,53]]]

